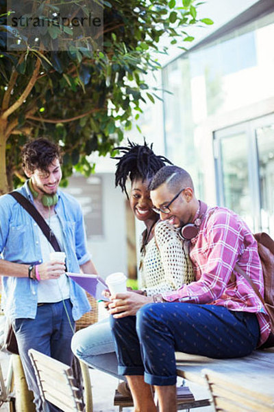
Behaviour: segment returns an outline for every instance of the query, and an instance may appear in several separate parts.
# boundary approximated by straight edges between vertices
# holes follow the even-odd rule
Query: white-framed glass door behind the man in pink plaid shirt
[[[274,236],[274,115],[214,133],[217,199]]]

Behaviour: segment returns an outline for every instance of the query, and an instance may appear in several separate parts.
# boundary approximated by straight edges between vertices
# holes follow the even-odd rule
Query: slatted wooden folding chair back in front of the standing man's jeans
[[[82,391],[77,387],[71,367],[30,349],[40,396],[64,412],[86,411]]]

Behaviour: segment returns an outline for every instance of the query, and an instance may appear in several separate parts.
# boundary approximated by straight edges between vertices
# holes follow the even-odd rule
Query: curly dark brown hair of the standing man
[[[62,163],[60,147],[45,137],[27,142],[22,148],[21,156],[23,168],[30,172],[36,169],[47,172],[56,158]]]

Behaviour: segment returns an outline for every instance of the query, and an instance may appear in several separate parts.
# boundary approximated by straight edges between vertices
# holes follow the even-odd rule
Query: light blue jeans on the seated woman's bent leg
[[[78,330],[71,341],[71,349],[77,358],[115,378],[118,375],[117,356],[108,318]]]

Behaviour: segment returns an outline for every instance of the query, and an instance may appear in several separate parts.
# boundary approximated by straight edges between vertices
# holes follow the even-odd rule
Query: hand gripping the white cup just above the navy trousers
[[[119,319],[126,316],[134,316],[142,306],[153,302],[150,296],[139,295],[135,292],[117,293],[110,297],[108,309],[113,317]]]

